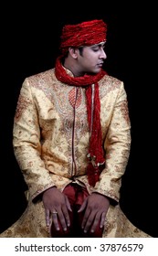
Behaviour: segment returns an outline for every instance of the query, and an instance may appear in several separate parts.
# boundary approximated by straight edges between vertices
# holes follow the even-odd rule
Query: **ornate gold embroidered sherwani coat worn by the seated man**
[[[69,75],[72,75],[67,70]],[[54,69],[26,78],[16,108],[14,150],[28,185],[26,211],[1,237],[50,237],[40,194],[48,187],[61,191],[77,182],[90,193],[111,197],[103,237],[148,237],[121,211],[121,176],[131,146],[126,92],[123,82],[109,75],[100,82],[100,123],[106,165],[100,181],[90,187],[86,175],[90,131],[85,88],[57,80]]]

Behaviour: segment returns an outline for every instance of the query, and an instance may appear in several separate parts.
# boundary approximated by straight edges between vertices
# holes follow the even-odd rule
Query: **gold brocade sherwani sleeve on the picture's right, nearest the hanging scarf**
[[[105,168],[100,174],[100,181],[94,187],[94,192],[114,199],[115,203],[120,199],[121,176],[128,163],[130,148],[131,123],[127,95],[121,82],[104,142]]]

